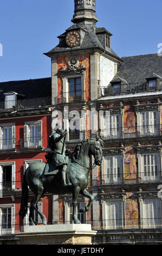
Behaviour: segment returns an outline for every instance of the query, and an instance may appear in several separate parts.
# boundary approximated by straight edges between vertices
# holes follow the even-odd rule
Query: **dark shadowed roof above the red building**
[[[21,95],[23,94],[25,99],[51,96],[51,78],[1,82],[0,100],[3,101],[4,93],[8,92],[16,92]]]

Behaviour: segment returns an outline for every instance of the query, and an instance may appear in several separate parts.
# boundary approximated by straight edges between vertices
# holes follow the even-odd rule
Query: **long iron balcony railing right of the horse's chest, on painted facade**
[[[93,180],[93,186],[115,186],[132,185],[141,183],[157,183],[162,181],[161,172],[142,172],[124,174],[105,174],[100,175],[98,180]]]

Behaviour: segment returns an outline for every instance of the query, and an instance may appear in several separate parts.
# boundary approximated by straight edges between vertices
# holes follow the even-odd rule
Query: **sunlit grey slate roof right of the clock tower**
[[[120,77],[128,83],[146,82],[153,73],[162,76],[162,56],[157,53],[131,57],[122,57],[124,62],[118,64],[118,72],[113,81]]]

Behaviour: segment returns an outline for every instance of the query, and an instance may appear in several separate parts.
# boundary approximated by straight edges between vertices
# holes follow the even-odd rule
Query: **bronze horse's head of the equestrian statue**
[[[97,166],[101,166],[102,163],[102,148],[103,141],[99,136],[96,136],[94,139],[89,139],[89,153],[94,156],[94,162]]]

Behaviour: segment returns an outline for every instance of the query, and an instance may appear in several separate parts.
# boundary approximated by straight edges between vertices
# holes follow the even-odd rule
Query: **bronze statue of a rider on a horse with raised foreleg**
[[[33,163],[25,170],[22,183],[22,200],[19,215],[24,218],[28,211],[28,186],[34,193],[30,202],[29,224],[35,225],[33,220],[34,210],[40,215],[43,224],[47,224],[44,214],[37,208],[37,203],[44,194],[73,195],[73,215],[75,224],[80,221],[77,218],[77,198],[79,194],[89,198],[88,205],[80,209],[86,212],[93,203],[93,196],[86,188],[90,176],[89,172],[95,165],[101,166],[103,141],[96,136],[82,141],[70,153],[65,146],[66,131],[56,130],[49,138],[49,146],[52,150],[46,156],[47,162]],[[90,166],[91,156],[94,164]]]

